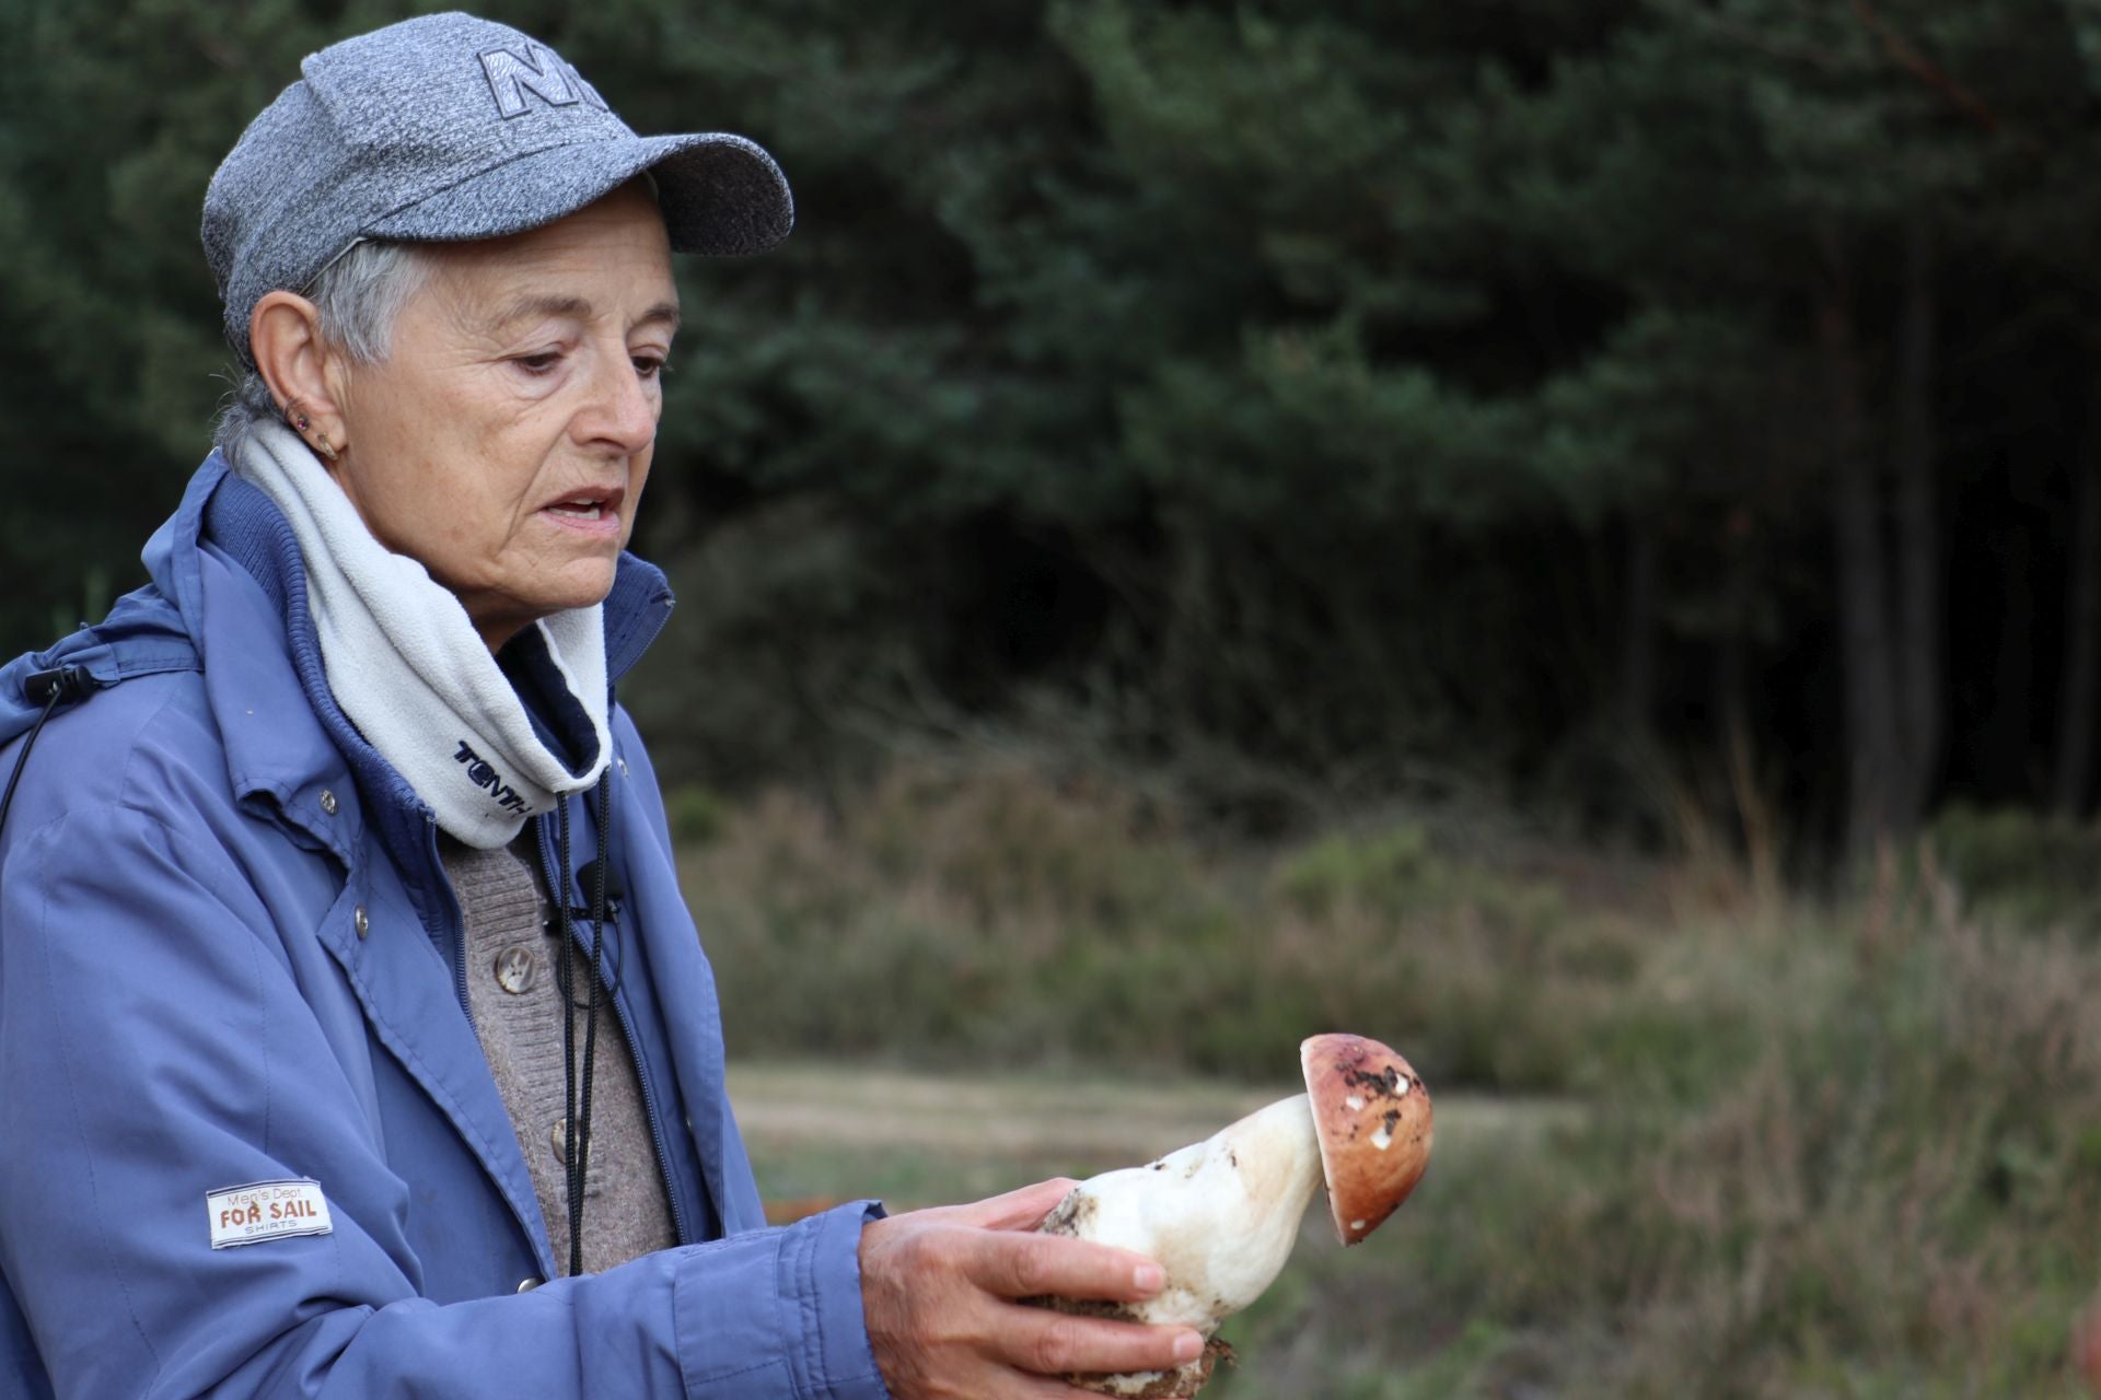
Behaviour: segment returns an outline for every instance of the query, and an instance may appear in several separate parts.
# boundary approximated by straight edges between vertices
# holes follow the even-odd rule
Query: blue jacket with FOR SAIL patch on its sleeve
[[[538,1287],[437,829],[328,693],[290,529],[212,455],[145,558],[109,619],[0,670],[0,779],[25,678],[105,686],[44,726],[0,829],[0,1394],[882,1398],[878,1207],[765,1228],[626,714],[607,963],[683,1243]],[[613,676],[668,609],[624,558]],[[332,1232],[210,1247],[208,1192],[282,1180]]]

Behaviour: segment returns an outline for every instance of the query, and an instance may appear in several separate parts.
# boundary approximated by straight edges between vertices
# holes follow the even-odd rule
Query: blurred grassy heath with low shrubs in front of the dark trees
[[[1429,1180],[1364,1249],[1309,1230],[1214,1394],[2084,1394],[2101,949],[1931,852],[1885,875],[1597,879],[1410,823],[1210,848],[1021,770],[895,775],[843,819],[775,793],[685,867],[733,1060],[803,1064],[737,1081],[771,1194],[1086,1173],[1210,1133],[1311,1031],[1410,1054]],[[796,1127],[828,1079],[918,1127],[824,1096]]]

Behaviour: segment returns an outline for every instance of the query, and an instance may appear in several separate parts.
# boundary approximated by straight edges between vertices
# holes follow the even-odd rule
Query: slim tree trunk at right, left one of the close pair
[[[1891,835],[1897,806],[1895,638],[1851,285],[1836,237],[1826,235],[1824,243],[1832,279],[1817,306],[1817,342],[1830,411],[1832,544],[1845,674],[1845,848],[1859,861]]]

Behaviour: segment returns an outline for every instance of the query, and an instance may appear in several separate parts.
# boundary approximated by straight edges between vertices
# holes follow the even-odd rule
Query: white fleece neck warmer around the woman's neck
[[[479,850],[508,844],[527,816],[584,791],[605,772],[605,617],[597,607],[534,623],[550,684],[590,724],[584,768],[571,770],[536,733],[460,600],[359,518],[313,451],[261,422],[233,470],[269,495],[298,537],[307,607],[328,688],[351,724],[431,804],[437,825]],[[532,638],[521,638],[532,644]],[[580,730],[582,726],[578,726]]]

